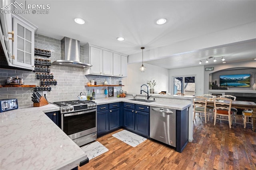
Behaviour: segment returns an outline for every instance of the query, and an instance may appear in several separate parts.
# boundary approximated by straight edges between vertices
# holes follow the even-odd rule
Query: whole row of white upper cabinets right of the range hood
[[[87,43],[84,45],[85,63],[92,67],[84,69],[85,75],[127,76],[127,56]]]

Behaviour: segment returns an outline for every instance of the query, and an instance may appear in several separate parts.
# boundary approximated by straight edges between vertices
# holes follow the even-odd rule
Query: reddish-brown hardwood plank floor
[[[182,153],[152,140],[132,147],[111,136],[119,129],[98,138],[109,151],[78,170],[256,170],[256,133],[251,125],[244,129],[239,116],[231,129],[228,121],[216,121],[214,126],[213,120],[205,124],[196,117],[194,140]]]

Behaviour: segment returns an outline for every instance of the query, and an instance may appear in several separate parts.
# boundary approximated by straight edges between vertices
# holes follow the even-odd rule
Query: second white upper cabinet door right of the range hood
[[[103,50],[103,75],[113,75],[113,53]]]

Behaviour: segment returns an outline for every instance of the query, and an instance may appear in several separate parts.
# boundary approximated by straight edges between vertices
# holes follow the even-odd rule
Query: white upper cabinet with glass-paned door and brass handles
[[[1,43],[4,44],[8,65],[34,70],[34,34],[37,27],[18,15],[1,14],[0,19]]]

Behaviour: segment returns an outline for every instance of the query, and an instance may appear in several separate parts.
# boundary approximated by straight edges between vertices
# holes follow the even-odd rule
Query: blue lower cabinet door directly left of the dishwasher
[[[145,137],[149,137],[149,113],[135,112],[135,131]]]

